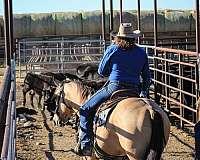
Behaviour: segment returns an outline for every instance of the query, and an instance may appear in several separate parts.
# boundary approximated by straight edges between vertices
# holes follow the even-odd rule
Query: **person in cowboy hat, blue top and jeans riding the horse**
[[[92,154],[93,119],[97,108],[120,89],[134,90],[138,95],[146,96],[151,76],[148,57],[145,51],[135,44],[140,36],[133,31],[130,23],[122,23],[119,32],[114,35],[114,43],[105,51],[99,64],[98,73],[109,77],[108,83],[98,90],[80,107],[80,133],[77,154]],[[142,88],[140,88],[140,77]]]

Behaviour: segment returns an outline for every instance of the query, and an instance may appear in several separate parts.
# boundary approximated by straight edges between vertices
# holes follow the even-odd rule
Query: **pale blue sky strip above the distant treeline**
[[[152,10],[154,0],[140,0],[141,10]],[[157,0],[158,9],[195,9],[196,0]],[[0,0],[0,15],[3,15]],[[102,0],[13,0],[13,13],[49,13],[101,10]],[[110,0],[105,0],[109,9]],[[119,0],[113,0],[113,9],[119,10]],[[137,0],[123,0],[123,10],[137,9]]]

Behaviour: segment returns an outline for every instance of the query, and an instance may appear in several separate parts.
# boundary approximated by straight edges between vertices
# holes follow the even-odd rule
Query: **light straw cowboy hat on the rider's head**
[[[133,31],[131,23],[121,23],[117,34],[111,33],[114,37],[125,37],[137,39],[141,36],[140,30]]]

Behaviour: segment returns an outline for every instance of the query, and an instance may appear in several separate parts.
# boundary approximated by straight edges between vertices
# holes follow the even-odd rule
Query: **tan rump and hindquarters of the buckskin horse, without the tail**
[[[158,107],[149,106],[147,102],[141,98],[127,98],[118,103],[110,115],[106,127],[98,127],[96,130],[97,144],[104,152],[111,155],[125,155],[130,152],[128,157],[135,155],[140,158],[147,155],[152,134],[152,108],[157,110]],[[159,110],[159,112],[163,111]],[[162,113],[161,117],[164,122],[165,140],[167,142],[169,120],[163,114],[165,113]],[[113,137],[115,138],[111,141],[110,139],[113,139]],[[117,139],[119,140],[118,147]],[[118,148],[118,153],[113,150],[113,146]]]

